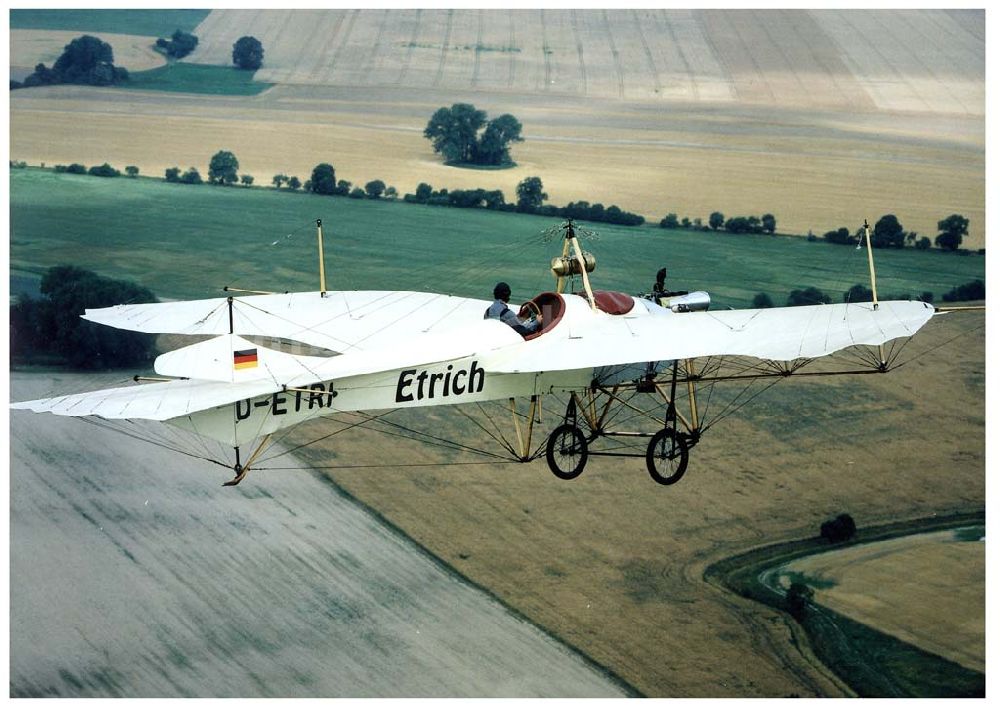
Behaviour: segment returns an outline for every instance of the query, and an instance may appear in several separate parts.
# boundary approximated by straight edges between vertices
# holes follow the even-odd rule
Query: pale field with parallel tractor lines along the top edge
[[[190,61],[257,78],[983,116],[982,14],[945,10],[215,10]],[[971,23],[970,23],[971,20]],[[916,42],[914,40],[917,40]]]

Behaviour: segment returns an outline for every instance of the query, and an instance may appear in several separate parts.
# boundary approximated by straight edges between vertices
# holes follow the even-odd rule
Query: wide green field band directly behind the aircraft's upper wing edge
[[[11,170],[10,178],[12,275],[69,263],[134,280],[161,298],[215,296],[224,285],[318,289],[317,218],[324,222],[330,289],[488,298],[503,279],[515,300],[527,299],[553,288],[549,261],[561,249],[558,237],[544,234],[559,221],[529,215],[31,168]],[[864,251],[852,247],[584,226],[599,234],[583,244],[597,256],[592,277],[600,289],[648,291],[664,265],[669,287],[708,290],[723,307],[748,307],[757,292],[781,305],[790,290],[810,285],[839,301],[851,285],[868,282]],[[977,255],[878,251],[876,262],[883,297],[931,291],[939,299],[985,277],[985,259]]]

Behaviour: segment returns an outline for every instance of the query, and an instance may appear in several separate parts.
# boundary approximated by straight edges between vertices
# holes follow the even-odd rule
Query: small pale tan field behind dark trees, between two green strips
[[[23,79],[35,70],[39,62],[51,66],[62,54],[63,48],[80,34],[57,30],[11,30],[11,78]],[[111,45],[115,66],[123,66],[129,71],[144,71],[167,63],[162,54],[153,51],[155,38],[105,32],[100,37]]]

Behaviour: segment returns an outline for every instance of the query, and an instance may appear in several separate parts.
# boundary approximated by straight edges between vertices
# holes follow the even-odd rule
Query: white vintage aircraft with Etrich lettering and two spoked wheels
[[[832,373],[888,371],[894,354],[884,345],[912,336],[935,312],[923,302],[878,302],[877,294],[872,302],[710,311],[704,292],[595,291],[588,277],[595,261],[568,222],[562,256],[552,261],[555,290],[520,310],[542,325],[522,336],[500,320],[484,319],[491,304],[485,300],[326,292],[320,222],[317,227],[319,292],[87,310],[85,319],[111,327],[201,341],[159,356],[154,368],[164,378],[136,377],[152,382],[11,407],[186,429],[234,451],[235,463],[213,460],[235,471],[226,482],[232,485],[259,466],[278,431],[310,419],[350,412],[375,420],[379,416],[365,412],[501,401],[509,402],[513,425],[507,430],[516,441],[494,437],[510,458],[527,462],[544,454],[553,473],[572,479],[588,455],[645,457],[655,481],[673,484],[709,427],[700,416],[699,388],[799,374],[813,360],[848,348],[861,352],[853,357],[857,363]],[[874,267],[871,273],[875,293]],[[577,277],[583,289],[570,293],[567,284]],[[311,353],[265,346],[262,338],[305,345]],[[547,397],[559,401],[559,422],[535,447],[532,434]],[[526,414],[519,400],[527,403]],[[647,430],[615,429],[623,411],[631,427],[645,421]],[[598,449],[616,441],[625,442]]]

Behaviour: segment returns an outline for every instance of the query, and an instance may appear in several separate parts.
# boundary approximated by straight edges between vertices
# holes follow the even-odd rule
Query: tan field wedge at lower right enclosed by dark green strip
[[[808,556],[781,573],[819,581],[821,605],[986,673],[985,542],[907,536]]]

